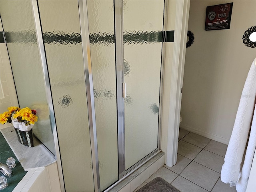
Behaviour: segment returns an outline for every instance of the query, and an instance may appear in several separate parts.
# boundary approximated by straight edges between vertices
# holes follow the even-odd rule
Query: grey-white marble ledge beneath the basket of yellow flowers
[[[34,147],[27,147],[18,142],[12,126],[1,129],[1,132],[25,171],[46,167],[56,162],[54,155],[36,137],[34,137]]]

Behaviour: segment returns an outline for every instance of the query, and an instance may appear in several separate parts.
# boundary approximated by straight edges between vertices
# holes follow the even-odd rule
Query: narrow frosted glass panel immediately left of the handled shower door
[[[101,191],[118,180],[114,1],[87,1]]]

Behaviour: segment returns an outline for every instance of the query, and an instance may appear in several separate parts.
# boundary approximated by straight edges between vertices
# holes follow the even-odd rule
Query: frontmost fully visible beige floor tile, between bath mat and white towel
[[[191,182],[199,185],[200,187],[211,191],[217,182],[220,174],[196,162],[191,162],[180,176],[190,180]]]

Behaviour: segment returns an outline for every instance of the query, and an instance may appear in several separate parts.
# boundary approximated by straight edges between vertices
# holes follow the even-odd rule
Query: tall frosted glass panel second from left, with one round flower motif
[[[38,1],[66,191],[94,191],[78,1]]]

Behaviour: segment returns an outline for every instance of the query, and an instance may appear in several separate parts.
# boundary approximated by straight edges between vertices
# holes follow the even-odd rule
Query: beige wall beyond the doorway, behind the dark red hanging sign
[[[230,29],[205,31],[206,7],[234,2]],[[240,96],[256,48],[242,36],[256,25],[256,1],[192,0],[188,30],[194,43],[186,50],[181,128],[228,144]]]

